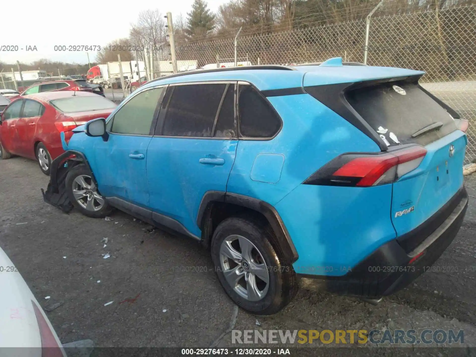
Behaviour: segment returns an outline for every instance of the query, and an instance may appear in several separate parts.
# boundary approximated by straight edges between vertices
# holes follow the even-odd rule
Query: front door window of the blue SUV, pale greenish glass
[[[111,131],[118,134],[149,135],[163,91],[163,87],[149,89],[130,99],[114,114]]]

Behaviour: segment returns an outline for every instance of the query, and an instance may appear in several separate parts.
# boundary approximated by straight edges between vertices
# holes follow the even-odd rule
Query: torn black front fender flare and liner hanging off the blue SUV
[[[73,204],[69,200],[66,191],[65,182],[69,170],[79,164],[84,164],[89,171],[91,171],[88,160],[84,154],[75,150],[68,150],[51,162],[50,182],[48,183],[46,191],[41,188],[41,194],[46,203],[61,209],[65,213],[73,209]],[[91,178],[96,183],[92,172]]]

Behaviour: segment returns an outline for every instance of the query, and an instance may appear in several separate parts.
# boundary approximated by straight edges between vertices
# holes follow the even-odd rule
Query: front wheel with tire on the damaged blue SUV
[[[112,208],[99,194],[96,185],[92,182],[91,172],[85,165],[73,167],[66,175],[65,185],[69,200],[83,215],[104,218],[111,213]]]

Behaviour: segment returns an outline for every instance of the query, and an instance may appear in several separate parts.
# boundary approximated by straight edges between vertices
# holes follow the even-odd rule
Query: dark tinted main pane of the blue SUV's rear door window
[[[210,137],[226,84],[173,86],[162,135]]]

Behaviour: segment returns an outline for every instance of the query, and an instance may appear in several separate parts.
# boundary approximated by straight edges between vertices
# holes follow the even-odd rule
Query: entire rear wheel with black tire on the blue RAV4
[[[281,249],[273,247],[274,241],[270,228],[248,217],[227,218],[213,233],[211,255],[218,280],[239,307],[255,315],[277,313],[297,293],[296,273],[285,262]],[[248,247],[245,251],[251,253],[241,255],[242,247]],[[234,258],[230,259],[230,256]],[[241,262],[237,259],[240,256],[243,258]],[[253,267],[259,269],[253,270]],[[253,274],[253,271],[258,273]],[[254,288],[250,289],[250,286]]]

